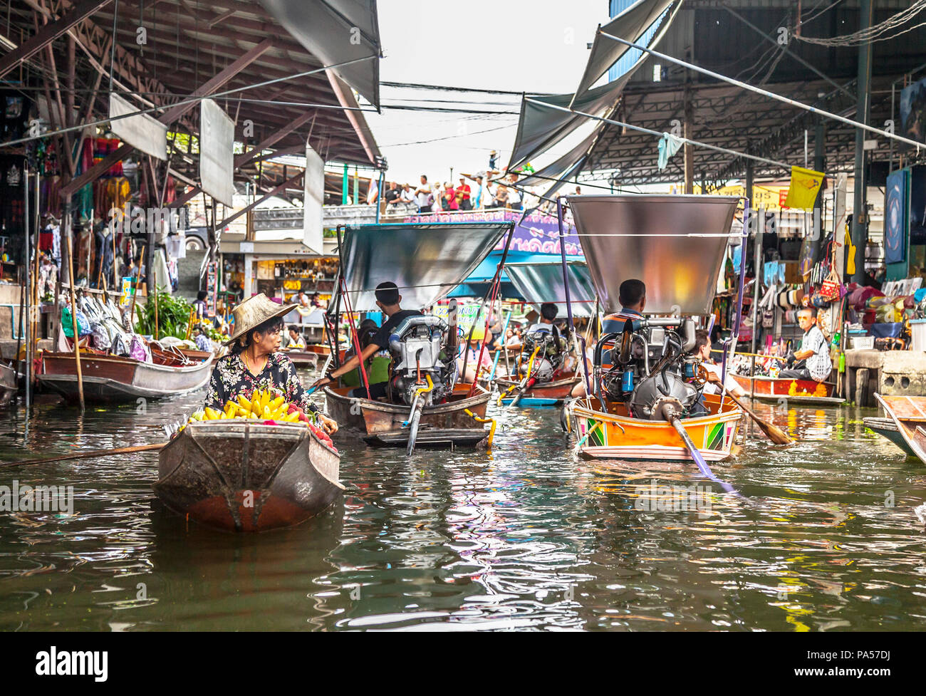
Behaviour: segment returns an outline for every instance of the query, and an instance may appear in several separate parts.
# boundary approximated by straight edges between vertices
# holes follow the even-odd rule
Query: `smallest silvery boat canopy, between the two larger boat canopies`
[[[572,316],[591,317],[595,293],[589,269],[581,261],[567,263],[566,267]],[[561,262],[506,264],[505,272],[525,302],[535,305],[538,310],[544,302],[552,302],[557,305],[560,316],[566,315],[566,288]]]

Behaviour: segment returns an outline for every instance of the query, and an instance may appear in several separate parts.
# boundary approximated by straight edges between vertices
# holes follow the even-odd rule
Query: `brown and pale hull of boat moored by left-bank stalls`
[[[194,392],[208,383],[213,360],[210,355],[197,365],[171,367],[117,355],[81,354],[83,398],[89,403],[117,404]],[[42,372],[36,379],[69,403],[79,398],[72,354],[43,353]]]

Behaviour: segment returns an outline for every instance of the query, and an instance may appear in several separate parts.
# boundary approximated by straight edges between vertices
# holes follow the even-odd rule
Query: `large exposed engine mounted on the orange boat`
[[[610,367],[603,369],[607,342],[614,342],[614,349]],[[688,416],[703,386],[694,379],[699,362],[689,355],[694,343],[691,318],[628,320],[623,333],[608,333],[595,346],[595,383],[607,392],[607,401],[623,402],[635,418],[664,420],[670,413]],[[597,395],[603,398],[601,392]]]

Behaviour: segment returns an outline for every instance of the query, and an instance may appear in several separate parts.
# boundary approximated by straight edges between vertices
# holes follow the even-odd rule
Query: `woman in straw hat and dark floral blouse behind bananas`
[[[337,432],[337,423],[308,400],[293,361],[280,353],[283,316],[295,306],[277,305],[260,292],[232,309],[235,331],[226,343],[232,353],[219,358],[212,370],[206,406],[220,411],[238,396],[250,399],[255,390],[275,389],[290,404],[318,413],[319,424],[327,432]]]

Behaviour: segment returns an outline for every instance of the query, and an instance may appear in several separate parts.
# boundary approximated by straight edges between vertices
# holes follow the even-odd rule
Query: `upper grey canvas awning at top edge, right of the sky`
[[[661,19],[662,21],[658,24],[657,34],[650,39],[647,47],[653,46],[658,43],[662,35],[669,29],[669,24],[672,23],[675,12],[678,12],[679,7],[682,6],[681,1],[676,2],[672,16],[666,21],[667,16],[665,13],[672,2],[673,0],[639,0],[639,2],[625,9],[605,26],[599,26],[598,31],[595,31],[594,34],[592,52],[589,54],[588,63],[585,64],[585,72],[582,73],[582,81],[579,82],[579,87],[576,89],[576,96],[581,97],[583,93],[591,89],[595,81],[604,75],[608,68],[617,63],[628,51],[633,51],[633,54],[643,53],[639,49],[619,44],[613,39],[608,39],[607,36],[602,36],[602,31],[632,41],[634,44],[639,44],[650,27]],[[646,56],[642,57],[645,58]],[[634,61],[632,70],[637,68],[636,64],[638,62]]]

